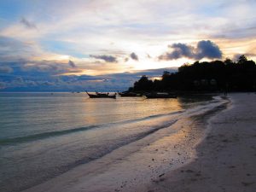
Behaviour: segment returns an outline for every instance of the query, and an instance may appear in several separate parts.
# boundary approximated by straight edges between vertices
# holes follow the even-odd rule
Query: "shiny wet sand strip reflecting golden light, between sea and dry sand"
[[[200,110],[192,110],[189,116],[182,116],[169,128],[25,191],[143,191],[138,188],[158,183],[167,172],[194,160],[195,145],[205,137],[206,122],[201,119],[222,110],[218,107],[224,103],[224,100],[209,102]]]

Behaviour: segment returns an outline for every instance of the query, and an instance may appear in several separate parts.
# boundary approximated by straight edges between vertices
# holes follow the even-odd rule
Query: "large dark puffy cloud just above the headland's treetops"
[[[220,59],[222,58],[222,52],[218,48],[217,44],[212,41],[200,41],[196,47],[192,47],[188,44],[172,44],[168,46],[172,49],[171,52],[166,52],[164,55],[160,55],[160,60],[176,60],[182,57],[189,59],[201,60],[202,58]]]

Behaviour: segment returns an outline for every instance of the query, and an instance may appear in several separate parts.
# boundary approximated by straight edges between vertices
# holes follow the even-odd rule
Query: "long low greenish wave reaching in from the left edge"
[[[128,123],[135,123],[143,120],[148,120],[148,119],[154,119],[154,118],[160,118],[160,117],[165,117],[168,115],[176,114],[176,113],[183,113],[183,110],[181,111],[176,111],[172,113],[162,113],[162,114],[155,114],[155,115],[150,115],[148,117],[140,118],[140,119],[129,119],[125,121],[119,121],[119,122],[114,122],[114,123],[108,123],[108,124],[101,124],[101,125],[88,125],[84,127],[78,127],[78,128],[73,128],[69,130],[64,130],[64,131],[50,131],[50,132],[43,132],[43,133],[38,133],[34,135],[29,135],[29,136],[24,136],[24,137],[13,137],[13,138],[4,138],[0,139],[0,146],[2,145],[15,145],[19,143],[29,143],[37,140],[42,140],[46,139],[49,137],[59,137],[79,131],[88,131],[90,129],[95,129],[95,128],[102,128],[106,127],[109,125],[124,125]]]

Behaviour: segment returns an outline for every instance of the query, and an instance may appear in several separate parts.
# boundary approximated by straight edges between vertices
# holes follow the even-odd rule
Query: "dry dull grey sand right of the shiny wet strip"
[[[230,108],[210,119],[196,159],[137,191],[256,191],[256,94],[228,97]]]

